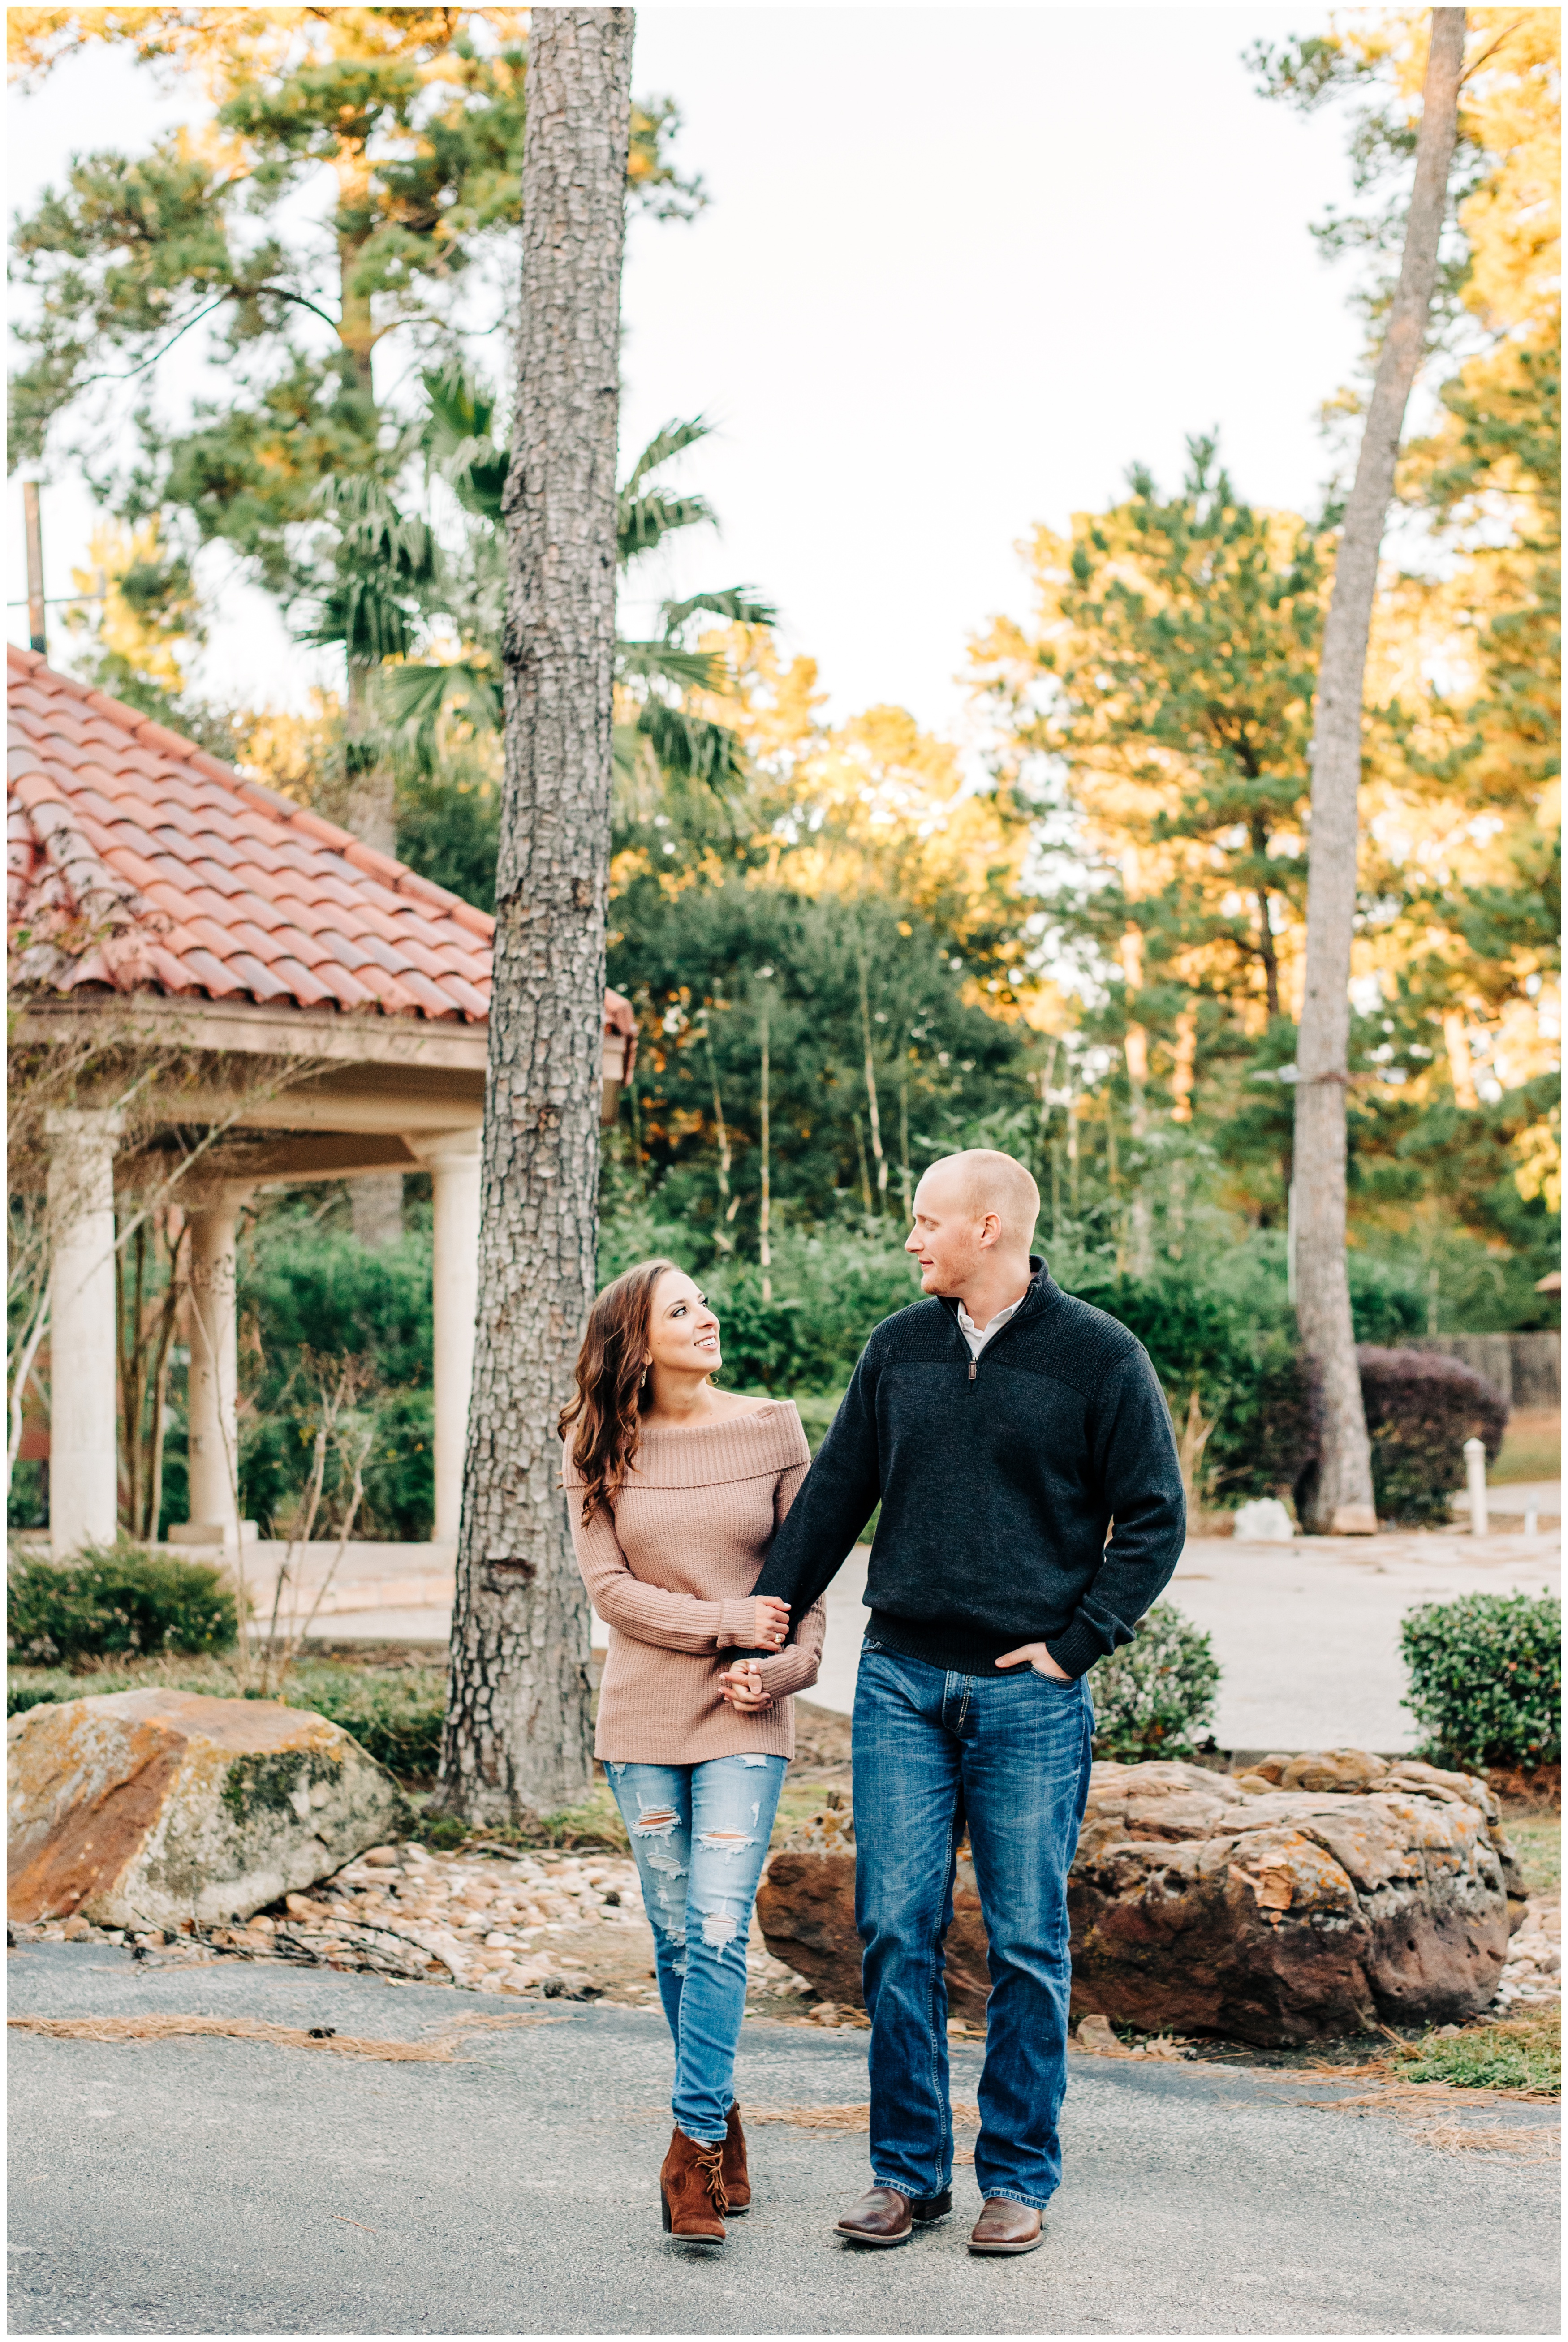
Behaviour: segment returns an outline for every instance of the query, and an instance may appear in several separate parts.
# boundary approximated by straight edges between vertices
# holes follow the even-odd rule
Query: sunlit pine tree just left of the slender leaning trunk
[[[1134,1141],[1153,1094],[1191,1122],[1216,1075],[1268,1056],[1270,1035],[1287,1047],[1305,892],[1329,548],[1252,508],[1212,440],[1188,454],[1174,494],[1137,466],[1130,497],[1071,536],[1036,529],[1029,625],[970,644],[1003,766],[1062,773],[1045,899],[1059,949],[1109,986],[1092,1026],[1125,1056]],[[1266,1213],[1287,1136],[1282,1152]]]

